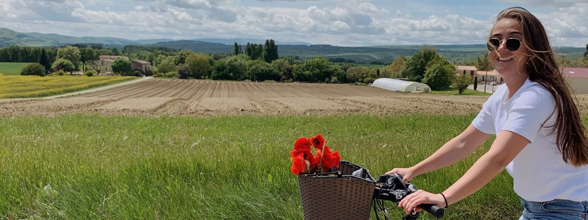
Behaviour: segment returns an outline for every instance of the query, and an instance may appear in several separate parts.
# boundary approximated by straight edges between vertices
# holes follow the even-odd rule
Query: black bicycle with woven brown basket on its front
[[[398,174],[380,175],[374,179],[369,170],[349,161],[340,161],[339,167],[319,174],[300,174],[298,184],[305,220],[355,219],[368,220],[370,213],[376,215],[379,208],[386,220],[385,201],[398,204],[418,188],[402,181]],[[319,205],[318,205],[319,204]],[[418,206],[436,218],[442,218],[445,211],[431,204]],[[416,220],[419,212],[403,216],[403,220]]]

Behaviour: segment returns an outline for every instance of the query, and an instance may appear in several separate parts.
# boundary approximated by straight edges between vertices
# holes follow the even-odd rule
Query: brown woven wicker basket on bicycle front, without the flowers
[[[367,220],[376,180],[369,171],[362,179],[352,176],[359,165],[340,161],[343,175],[298,175],[302,213],[305,220]],[[367,170],[366,170],[367,171]]]

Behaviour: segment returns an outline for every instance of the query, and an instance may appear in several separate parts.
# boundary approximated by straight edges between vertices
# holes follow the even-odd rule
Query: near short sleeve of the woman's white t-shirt
[[[544,89],[530,88],[512,100],[502,130],[520,134],[532,143],[554,109],[555,99],[551,93]]]

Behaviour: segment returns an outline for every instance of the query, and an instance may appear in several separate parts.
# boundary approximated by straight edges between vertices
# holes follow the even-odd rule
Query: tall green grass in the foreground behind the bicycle
[[[377,177],[425,159],[473,117],[5,118],[0,219],[302,219],[290,172],[296,138],[325,134],[342,160]],[[413,184],[442,192],[492,140]],[[517,219],[519,202],[503,171],[443,219]],[[400,209],[389,213],[402,216]],[[423,212],[422,219],[432,218]]]

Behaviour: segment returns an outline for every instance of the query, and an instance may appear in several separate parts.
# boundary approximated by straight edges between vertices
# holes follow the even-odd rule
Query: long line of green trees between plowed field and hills
[[[123,55],[130,59],[141,59],[152,63],[158,76],[186,79],[219,80],[275,80],[279,82],[311,83],[371,83],[380,77],[403,78],[429,84],[432,89],[447,89],[450,86],[463,87],[467,79],[458,79],[455,65],[476,66],[479,70],[492,70],[487,54],[475,60],[450,63],[436,52],[435,48],[422,48],[410,57],[396,57],[387,65],[373,69],[352,63],[342,58],[299,60],[295,56],[280,57],[278,46],[273,39],[265,45],[247,43],[245,50],[235,43],[233,53],[202,54],[192,50],[181,50],[128,45],[118,48],[102,48],[95,45],[74,45],[62,48],[30,48],[11,46],[0,49],[0,62],[37,62],[45,69],[72,70],[93,69],[92,60],[99,55]],[[563,60],[563,59],[562,59]],[[333,62],[335,61],[335,62]],[[130,62],[115,60],[113,70],[121,74],[130,72]],[[567,61],[563,61],[567,62]],[[588,64],[588,45],[580,63]],[[565,63],[563,63],[565,64]],[[121,66],[120,68],[118,66]],[[469,77],[469,76],[468,76]],[[462,85],[455,83],[461,80]],[[471,79],[470,79],[471,80]],[[469,82],[471,83],[471,82]]]

